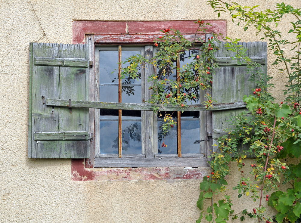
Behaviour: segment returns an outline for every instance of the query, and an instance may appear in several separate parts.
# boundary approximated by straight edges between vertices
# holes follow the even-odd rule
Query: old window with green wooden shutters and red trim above
[[[208,34],[197,34],[203,42],[212,32],[226,35],[225,21],[210,22]],[[162,119],[145,103],[151,96],[147,77],[158,71],[145,65],[135,81],[111,74],[119,59],[131,54],[152,57],[153,40],[161,35],[158,29],[173,27],[193,40],[193,24],[75,21],[73,42],[86,44],[31,43],[28,156],[85,158],[86,167],[206,167],[207,156],[217,150],[212,145],[230,127],[226,120],[245,109],[242,98],[255,87],[247,81],[244,64],[237,66],[231,59],[233,53],[218,46],[214,62],[220,68],[211,90],[217,102],[206,110],[195,101],[183,113],[174,113],[178,125],[165,139],[168,147],[162,147],[160,138]],[[266,43],[241,44],[266,72]],[[186,61],[184,55],[175,63],[182,66]],[[202,98],[203,92],[199,94]]]

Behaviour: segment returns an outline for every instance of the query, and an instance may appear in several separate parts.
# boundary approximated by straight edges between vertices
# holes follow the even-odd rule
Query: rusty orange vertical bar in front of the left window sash
[[[121,103],[121,45],[118,46],[118,102]],[[121,110],[118,110],[118,157],[121,158],[122,150],[122,128],[121,128]]]

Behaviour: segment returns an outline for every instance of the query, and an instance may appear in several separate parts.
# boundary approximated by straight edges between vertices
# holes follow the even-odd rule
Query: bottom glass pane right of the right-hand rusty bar
[[[181,113],[181,151],[200,153],[200,112]],[[187,120],[188,119],[188,120]]]

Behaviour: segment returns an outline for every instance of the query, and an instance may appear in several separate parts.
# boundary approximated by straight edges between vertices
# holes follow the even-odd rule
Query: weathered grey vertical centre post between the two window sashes
[[[153,46],[145,46],[144,57],[150,60],[153,57],[154,47]],[[148,77],[154,74],[154,65],[151,63],[145,64],[144,68],[145,73],[145,86],[144,86],[144,101],[148,101],[151,99],[151,94],[153,94],[153,90],[149,90],[153,85],[153,82],[148,82]],[[147,103],[147,102],[145,102]],[[151,158],[154,157],[154,112],[153,111],[145,111],[145,157]]]

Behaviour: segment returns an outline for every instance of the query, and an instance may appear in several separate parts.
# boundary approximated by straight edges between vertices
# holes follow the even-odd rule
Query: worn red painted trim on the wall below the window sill
[[[176,180],[201,179],[209,173],[208,168],[85,168],[84,159],[72,159],[73,181],[129,181],[129,180]]]

